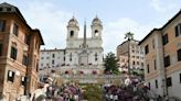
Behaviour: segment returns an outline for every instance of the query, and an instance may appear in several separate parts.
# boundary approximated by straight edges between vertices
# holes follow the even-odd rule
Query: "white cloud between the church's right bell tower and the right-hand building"
[[[105,54],[116,52],[116,47],[126,41],[127,32],[134,33],[135,40],[142,40],[153,27],[151,23],[141,24],[129,18],[120,18],[117,21],[108,22],[103,34]]]

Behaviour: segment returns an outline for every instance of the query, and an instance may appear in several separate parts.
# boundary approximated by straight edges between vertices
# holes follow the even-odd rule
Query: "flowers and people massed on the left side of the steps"
[[[83,90],[77,83],[67,82],[57,86],[53,81],[50,78],[42,81],[39,89],[25,101],[81,101],[83,99]]]

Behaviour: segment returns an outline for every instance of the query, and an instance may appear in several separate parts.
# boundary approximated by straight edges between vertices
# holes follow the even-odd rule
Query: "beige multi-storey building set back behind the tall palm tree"
[[[145,54],[143,49],[138,45],[138,43],[139,41],[131,40],[125,41],[123,44],[117,46],[117,57],[119,58],[120,71],[128,71],[128,52],[130,69],[138,72],[143,69]]]

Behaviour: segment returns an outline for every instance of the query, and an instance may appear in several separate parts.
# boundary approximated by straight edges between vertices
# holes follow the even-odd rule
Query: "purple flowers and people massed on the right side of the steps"
[[[121,86],[104,86],[105,101],[161,101],[161,98],[138,80],[125,80]]]

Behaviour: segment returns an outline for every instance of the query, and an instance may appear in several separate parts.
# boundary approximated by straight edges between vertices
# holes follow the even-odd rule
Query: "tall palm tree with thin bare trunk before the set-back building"
[[[130,74],[130,41],[134,40],[134,33],[126,33],[125,38],[128,40],[128,74]]]

